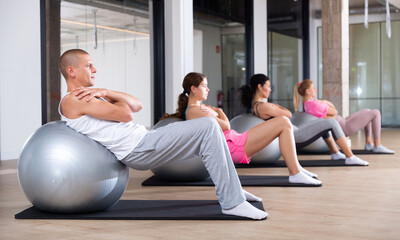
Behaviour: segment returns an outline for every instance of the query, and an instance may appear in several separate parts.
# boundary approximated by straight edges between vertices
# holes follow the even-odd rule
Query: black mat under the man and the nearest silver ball
[[[262,202],[250,202],[264,210]],[[93,213],[61,214],[30,207],[16,219],[80,220],[253,220],[222,214],[217,200],[120,200],[113,207]]]

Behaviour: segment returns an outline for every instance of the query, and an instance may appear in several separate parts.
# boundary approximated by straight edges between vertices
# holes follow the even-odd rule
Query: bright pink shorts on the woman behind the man
[[[250,162],[250,158],[247,157],[244,152],[244,145],[247,141],[247,131],[240,134],[235,130],[231,129],[224,132],[226,143],[228,144],[229,152],[233,163],[246,163]]]

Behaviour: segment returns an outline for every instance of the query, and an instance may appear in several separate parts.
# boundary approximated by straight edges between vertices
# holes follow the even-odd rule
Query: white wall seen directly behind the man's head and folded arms
[[[99,38],[98,48],[93,43],[82,43],[97,69],[95,87],[129,93],[143,103],[143,109],[134,114],[134,122],[151,127],[150,39],[138,37],[137,51],[133,51],[133,38]],[[62,46],[61,53],[76,46]],[[66,94],[65,79],[61,77],[61,96]]]

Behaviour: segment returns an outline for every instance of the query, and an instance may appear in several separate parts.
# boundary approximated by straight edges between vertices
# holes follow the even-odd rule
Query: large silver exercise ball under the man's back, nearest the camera
[[[93,212],[121,198],[129,169],[99,143],[56,121],[25,143],[18,179],[28,200],[43,211]]]

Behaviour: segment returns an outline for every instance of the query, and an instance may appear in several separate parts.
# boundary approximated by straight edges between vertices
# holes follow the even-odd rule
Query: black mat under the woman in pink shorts
[[[253,175],[239,175],[242,186],[247,187],[320,187],[322,185],[312,185],[304,183],[290,183],[288,176],[253,176]],[[214,186],[211,178],[203,181],[196,182],[173,182],[166,181],[152,176],[142,182],[142,186]]]

